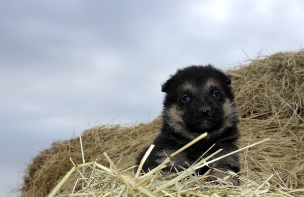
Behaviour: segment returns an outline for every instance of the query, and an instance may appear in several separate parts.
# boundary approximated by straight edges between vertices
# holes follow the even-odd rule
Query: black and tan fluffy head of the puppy
[[[238,118],[230,84],[229,77],[212,65],[177,70],[162,85],[164,121],[177,131],[194,134],[235,125]]]

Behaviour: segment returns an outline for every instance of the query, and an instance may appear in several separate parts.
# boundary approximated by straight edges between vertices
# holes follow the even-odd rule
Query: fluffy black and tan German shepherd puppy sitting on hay
[[[167,163],[163,171],[172,172],[176,169],[182,170],[180,167],[188,168],[214,144],[204,157],[221,148],[223,150],[213,158],[237,150],[235,143],[240,133],[237,127],[238,115],[234,94],[230,84],[229,77],[211,64],[192,65],[177,70],[162,85],[162,91],[166,93],[163,102],[162,128],[153,142],[155,147],[145,160],[142,170],[148,172],[156,168],[167,156],[205,132],[208,132],[208,135],[204,139],[171,158],[171,162]],[[137,165],[147,148],[139,153]],[[240,153],[212,162],[209,167],[211,176],[208,181],[227,176],[228,174],[225,173],[227,171],[238,173],[240,172]],[[205,167],[198,173],[202,175],[208,170],[209,168]],[[237,177],[233,177],[231,182],[239,185]]]

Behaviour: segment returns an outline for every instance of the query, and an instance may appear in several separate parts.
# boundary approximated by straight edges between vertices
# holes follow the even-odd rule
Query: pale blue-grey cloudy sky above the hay
[[[303,27],[300,0],[0,1],[0,196],[52,142],[156,118],[176,69],[297,50]]]

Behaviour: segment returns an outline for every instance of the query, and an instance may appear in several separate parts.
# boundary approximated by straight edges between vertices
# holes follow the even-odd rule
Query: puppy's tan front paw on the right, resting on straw
[[[236,185],[239,186],[240,185],[240,180],[238,179],[238,177],[233,176],[229,173],[225,173],[222,171],[216,171],[216,170],[211,170],[209,172],[209,177],[207,178],[208,182],[212,182],[214,184],[225,184],[225,185]]]

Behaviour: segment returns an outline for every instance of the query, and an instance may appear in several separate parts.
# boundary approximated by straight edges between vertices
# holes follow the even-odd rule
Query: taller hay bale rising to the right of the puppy
[[[304,188],[304,51],[251,59],[227,73],[241,116],[240,146],[271,139],[250,148],[243,165],[263,175],[274,172],[270,162],[288,187]]]

